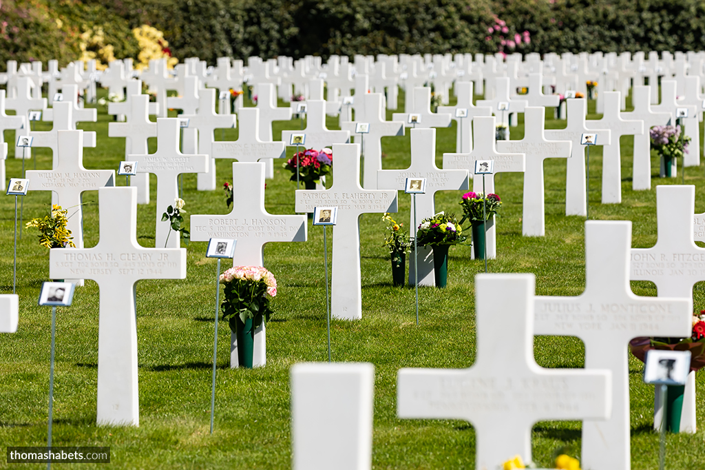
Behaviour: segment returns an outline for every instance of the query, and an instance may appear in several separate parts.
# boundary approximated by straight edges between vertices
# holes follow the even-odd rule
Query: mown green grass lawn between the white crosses
[[[283,105],[283,103],[280,103]],[[589,119],[594,114],[589,103]],[[403,95],[400,97],[403,109]],[[552,115],[551,115],[552,117]],[[89,169],[116,169],[124,157],[124,139],[108,138],[111,121],[99,109],[97,123],[81,128],[97,131],[98,146],[86,149]],[[387,112],[391,119],[391,112]],[[337,128],[329,118],[329,128]],[[37,129],[50,128],[37,123]],[[548,119],[546,128],[565,121]],[[300,121],[275,123],[274,138],[283,129],[298,129]],[[511,128],[513,139],[523,135],[523,121]],[[218,140],[233,140],[237,129],[216,131]],[[154,140],[154,139],[152,139]],[[623,138],[623,155],[631,155],[631,138]],[[8,133],[6,141],[13,142]],[[702,141],[702,140],[701,140]],[[444,152],[455,152],[455,125],[437,130],[436,162]],[[383,167],[406,168],[410,138],[384,138]],[[11,145],[12,147],[12,145]],[[154,152],[156,142],[150,145]],[[293,149],[288,149],[289,155]],[[48,150],[35,149],[39,169],[51,167]],[[656,242],[656,185],[680,183],[658,178],[658,159],[652,155],[651,191],[632,191],[632,162],[622,161],[623,203],[601,205],[601,147],[591,151],[591,219],[632,221],[632,246]],[[27,169],[34,162],[27,161]],[[8,176],[21,175],[21,160],[11,155]],[[218,186],[232,181],[231,162],[217,162]],[[565,217],[565,159],[548,159],[546,170],[546,236],[522,236],[522,174],[496,177],[496,192],[504,205],[497,225],[498,258],[491,272],[532,272],[537,294],[576,296],[584,289],[584,217]],[[697,191],[696,212],[705,212],[705,166],[688,168],[685,179]],[[123,178],[117,179],[124,185]],[[329,181],[329,185],[331,181]],[[267,181],[266,209],[273,214],[294,213],[295,183],[275,164],[274,180]],[[183,177],[187,215],[230,212],[221,189],[196,191],[196,176]],[[460,212],[462,191],[436,195],[436,210]],[[0,284],[12,292],[14,198],[0,198]],[[85,246],[99,240],[98,193],[84,193]],[[137,241],[154,246],[156,179],[152,176],[152,203],[137,210]],[[24,198],[23,218],[43,216],[50,203],[47,192]],[[410,199],[400,194],[399,222],[408,227]],[[70,212],[71,213],[71,212]],[[111,217],[102,214],[102,217]],[[309,222],[310,224],[310,222]],[[469,225],[468,225],[469,227]],[[49,253],[37,243],[36,233],[22,230],[18,241],[20,324],[13,335],[0,335],[0,442],[3,446],[46,445],[49,387],[49,307],[37,307],[39,288],[49,280]],[[229,368],[229,331],[219,329],[219,360],[214,435],[209,435],[210,387],[214,327],[216,260],[205,258],[206,243],[189,244],[188,276],[183,280],[145,280],[137,284],[137,337],[140,378],[140,426],[97,427],[97,284],[87,281],[77,289],[73,306],[59,308],[56,328],[54,391],[54,445],[110,446],[111,467],[122,469],[286,469],[290,467],[289,368],[302,361],[325,361],[326,306],[324,295],[323,232],[310,227],[307,243],[270,243],[264,250],[266,267],[278,279],[276,311],[267,327],[267,366],[255,370]],[[333,320],[333,361],[365,361],[375,366],[373,464],[376,469],[466,469],[474,466],[474,429],[465,421],[400,420],[396,417],[396,373],[403,367],[466,368],[474,362],[474,275],[484,272],[482,260],[470,259],[470,246],[450,249],[448,288],[419,289],[420,325],[415,324],[415,292],[395,288],[391,263],[382,246],[381,214],[360,219],[362,246],[362,320]],[[329,250],[331,244],[329,243]],[[224,268],[223,268],[224,269]],[[656,295],[650,282],[632,282],[643,296]],[[705,289],[694,289],[694,308],[705,308]],[[511,327],[511,325],[508,325]],[[498,340],[501,340],[498,338]],[[625,348],[627,346],[625,345]],[[584,345],[575,337],[536,337],[534,352],[544,367],[580,368]],[[698,425],[694,435],[669,435],[670,469],[705,468],[705,375],[697,375]],[[658,468],[658,434],[651,430],[654,387],[642,382],[642,363],[630,356],[632,468]],[[505,423],[512,426],[512,423]],[[534,461],[552,466],[559,447],[580,457],[578,421],[537,423],[532,433]],[[4,450],[4,449],[3,449]],[[512,456],[507,456],[512,457]],[[43,468],[20,464],[13,468]],[[63,464],[62,468],[86,465]],[[0,459],[0,468],[8,468]]]

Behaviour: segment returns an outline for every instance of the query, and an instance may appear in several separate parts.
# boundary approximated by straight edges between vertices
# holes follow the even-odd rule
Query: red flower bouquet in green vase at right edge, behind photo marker
[[[692,325],[691,335],[687,338],[638,337],[629,342],[629,349],[642,362],[646,362],[646,353],[651,349],[690,351],[690,370],[697,372],[705,367],[705,310],[701,310],[699,315],[693,315]],[[684,392],[683,386],[668,387],[667,429],[675,433],[680,429],[680,406]],[[681,398],[672,399],[674,395]],[[694,406],[694,402],[691,402],[691,406]]]

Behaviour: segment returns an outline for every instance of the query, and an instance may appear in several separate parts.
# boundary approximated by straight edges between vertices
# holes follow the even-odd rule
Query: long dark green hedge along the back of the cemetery
[[[119,57],[137,56],[131,28],[164,31],[173,55],[246,59],[315,54],[496,52],[531,33],[520,52],[699,50],[705,0],[4,0],[0,64],[62,65],[78,57],[78,34],[100,26]],[[63,20],[57,26],[55,18]],[[505,51],[510,49],[505,48]],[[4,65],[0,65],[4,68]]]

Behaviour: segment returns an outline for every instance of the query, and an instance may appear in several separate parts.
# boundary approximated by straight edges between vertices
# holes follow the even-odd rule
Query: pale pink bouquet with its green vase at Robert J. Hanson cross
[[[276,296],[276,279],[261,266],[235,266],[221,274],[220,283],[225,291],[223,320],[238,339],[238,363],[252,368],[255,330],[274,313],[269,297]]]

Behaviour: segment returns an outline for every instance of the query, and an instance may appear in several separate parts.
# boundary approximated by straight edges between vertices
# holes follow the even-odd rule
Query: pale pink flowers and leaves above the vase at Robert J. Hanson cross
[[[225,300],[221,303],[223,320],[231,320],[238,315],[244,323],[252,318],[253,328],[262,325],[262,321],[269,321],[269,315],[274,313],[269,306],[269,298],[276,296],[276,279],[266,268],[231,267],[221,274],[220,283],[225,289]]]

